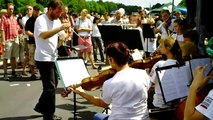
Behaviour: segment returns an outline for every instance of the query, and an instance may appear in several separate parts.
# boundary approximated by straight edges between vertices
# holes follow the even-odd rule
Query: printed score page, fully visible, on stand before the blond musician
[[[157,74],[165,103],[188,95],[188,84],[192,79],[189,63],[181,67],[157,70]]]

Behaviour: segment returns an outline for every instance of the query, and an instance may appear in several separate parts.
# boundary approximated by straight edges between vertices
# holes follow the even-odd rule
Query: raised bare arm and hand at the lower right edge
[[[194,80],[189,88],[189,95],[186,100],[186,106],[184,110],[184,120],[206,120],[202,113],[195,109],[196,107],[196,94],[199,90],[207,84],[208,80],[211,78],[210,76],[204,77],[205,67],[198,66],[194,72]]]

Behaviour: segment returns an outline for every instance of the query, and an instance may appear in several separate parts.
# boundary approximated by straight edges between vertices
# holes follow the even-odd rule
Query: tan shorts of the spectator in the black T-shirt
[[[35,44],[28,44],[28,50],[29,50],[29,64],[35,66],[35,58],[34,58],[34,54],[35,54]]]

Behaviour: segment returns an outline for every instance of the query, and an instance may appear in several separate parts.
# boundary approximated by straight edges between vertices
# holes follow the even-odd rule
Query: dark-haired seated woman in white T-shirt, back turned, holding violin
[[[71,88],[96,106],[112,106],[110,115],[97,113],[94,120],[102,120],[103,115],[108,120],[149,119],[147,98],[150,77],[145,70],[129,67],[129,54],[129,49],[122,42],[111,43],[106,47],[109,63],[117,73],[103,83],[100,97],[89,95],[79,88],[75,89],[75,86]]]

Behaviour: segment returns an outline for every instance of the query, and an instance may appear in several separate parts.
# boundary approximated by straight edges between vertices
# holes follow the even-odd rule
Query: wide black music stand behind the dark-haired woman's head
[[[139,30],[123,30],[121,26],[112,25],[99,25],[98,28],[104,41],[104,46],[111,42],[123,42],[129,49],[143,50],[143,39]]]

